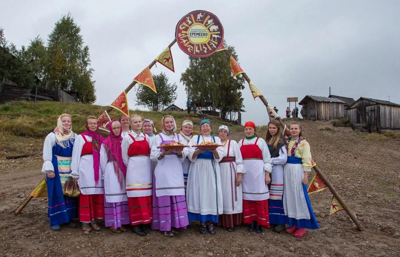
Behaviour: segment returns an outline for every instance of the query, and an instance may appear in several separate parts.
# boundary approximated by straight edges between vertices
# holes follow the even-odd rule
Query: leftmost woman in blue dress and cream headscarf
[[[48,194],[48,217],[53,231],[60,231],[60,224],[76,228],[72,221],[78,217],[78,198],[63,194],[64,184],[71,172],[71,156],[76,134],[72,132],[69,114],[61,114],[57,127],[47,135],[43,144],[43,167]]]

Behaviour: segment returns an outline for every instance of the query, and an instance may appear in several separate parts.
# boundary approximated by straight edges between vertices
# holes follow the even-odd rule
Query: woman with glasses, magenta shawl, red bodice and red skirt
[[[70,176],[80,188],[79,220],[83,231],[100,230],[96,220],[104,219],[104,184],[100,178],[100,146],[104,140],[97,133],[97,118],[86,119],[86,131],[75,139]]]

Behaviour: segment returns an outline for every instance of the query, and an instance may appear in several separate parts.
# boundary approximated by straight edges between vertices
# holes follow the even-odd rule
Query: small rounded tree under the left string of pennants
[[[147,107],[151,111],[162,111],[176,100],[176,84],[168,83],[168,77],[164,72],[153,75],[157,93],[146,86],[138,86],[136,89],[137,105]]]

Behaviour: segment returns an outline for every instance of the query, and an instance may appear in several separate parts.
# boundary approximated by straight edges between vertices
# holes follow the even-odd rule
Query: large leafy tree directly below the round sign
[[[238,60],[234,46],[224,45]],[[205,58],[189,57],[189,67],[181,74],[188,99],[200,106],[220,109],[221,117],[226,118],[227,111],[243,111],[244,78],[232,77],[229,57],[223,51]]]

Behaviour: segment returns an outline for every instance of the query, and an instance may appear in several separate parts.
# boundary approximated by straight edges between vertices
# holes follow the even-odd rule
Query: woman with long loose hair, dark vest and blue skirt
[[[283,209],[283,164],[288,158],[286,140],[283,137],[282,127],[276,119],[268,123],[265,138],[271,154],[272,172],[270,184],[269,215],[270,227],[275,232],[282,232],[286,228],[286,218]]]

